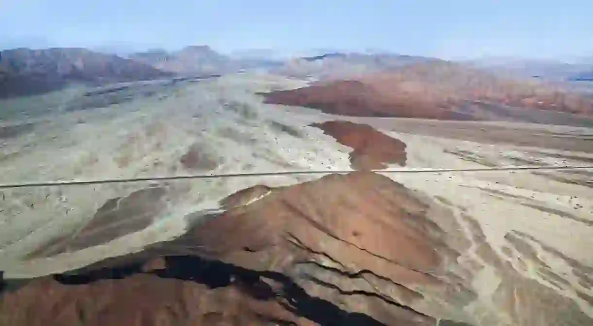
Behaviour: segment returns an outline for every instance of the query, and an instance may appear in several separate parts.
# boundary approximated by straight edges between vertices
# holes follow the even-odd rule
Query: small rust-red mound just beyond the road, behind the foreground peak
[[[342,145],[352,147],[350,164],[357,170],[380,170],[385,164],[406,166],[406,143],[375,130],[368,124],[347,121],[315,123]]]

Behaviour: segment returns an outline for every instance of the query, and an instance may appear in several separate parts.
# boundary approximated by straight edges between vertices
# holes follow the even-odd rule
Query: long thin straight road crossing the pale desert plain
[[[464,169],[401,169],[401,170],[366,170],[381,173],[438,173],[438,172],[480,172],[480,171],[517,171],[517,170],[580,170],[593,169],[593,165],[575,167],[493,167],[493,168],[464,168]],[[183,179],[212,179],[212,178],[234,178],[234,177],[258,177],[266,175],[303,175],[303,174],[346,174],[356,170],[324,170],[324,171],[280,171],[280,172],[247,172],[227,174],[187,174],[167,175],[160,177],[136,177],[136,178],[106,178],[98,180],[63,180],[63,181],[39,181],[24,183],[0,184],[0,189],[23,188],[23,187],[51,187],[51,186],[72,186],[84,184],[106,184],[106,183],[129,183],[139,181],[166,181]]]

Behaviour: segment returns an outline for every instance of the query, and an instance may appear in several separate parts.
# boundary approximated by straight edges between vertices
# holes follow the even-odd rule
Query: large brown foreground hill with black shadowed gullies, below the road
[[[150,206],[151,196],[135,194],[127,205]],[[591,322],[574,302],[499,257],[473,218],[463,215],[467,239],[447,204],[374,172],[255,186],[224,202],[233,207],[171,241],[80,270],[7,282],[0,324],[471,325],[463,307],[476,300],[471,282],[483,264],[502,279],[492,302],[498,318],[521,325],[540,325],[541,318],[550,325]],[[95,216],[88,245],[111,239],[118,224]],[[84,238],[54,244],[53,251],[80,249]],[[537,239],[521,232],[505,238],[550,282],[568,284],[537,258],[529,244]],[[461,266],[461,253],[473,246],[478,256]],[[593,270],[546,250],[567,260],[584,286],[593,284]]]

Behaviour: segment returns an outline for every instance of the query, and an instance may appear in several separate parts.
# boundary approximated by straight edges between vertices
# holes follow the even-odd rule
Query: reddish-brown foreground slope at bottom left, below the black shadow
[[[315,325],[275,301],[266,283],[253,283],[248,278],[231,283],[229,273],[216,276],[213,274],[218,271],[208,267],[197,270],[192,280],[178,278],[173,270],[179,269],[181,263],[193,263],[194,267],[199,264],[173,257],[167,259],[166,270],[113,274],[113,279],[90,283],[78,284],[78,280],[67,277],[34,280],[7,298],[4,308],[9,309],[10,316],[0,319],[3,325],[39,326],[264,325],[270,322]],[[39,300],[39,293],[50,295]],[[35,309],[35,314],[29,314],[21,308],[23,305]]]

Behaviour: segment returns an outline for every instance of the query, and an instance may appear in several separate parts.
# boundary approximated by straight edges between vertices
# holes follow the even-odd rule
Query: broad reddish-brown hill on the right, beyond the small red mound
[[[266,103],[318,108],[346,116],[512,120],[581,126],[584,116],[593,115],[590,98],[442,61],[273,91],[265,97]],[[592,119],[585,120],[586,125],[593,123]]]

